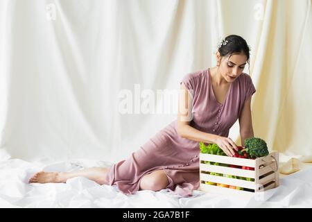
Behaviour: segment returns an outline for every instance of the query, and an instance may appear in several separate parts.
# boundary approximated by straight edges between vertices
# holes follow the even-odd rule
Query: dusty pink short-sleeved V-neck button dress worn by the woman
[[[187,89],[193,89],[190,126],[223,137],[228,136],[229,128],[239,118],[245,99],[256,92],[252,79],[245,73],[230,85],[223,104],[216,101],[209,69],[187,74],[181,83]],[[199,151],[199,142],[177,134],[175,120],[132,153],[128,160],[114,164],[106,179],[124,194],[134,194],[144,175],[163,169],[169,181],[166,187],[169,191],[191,196],[193,189],[199,187]]]

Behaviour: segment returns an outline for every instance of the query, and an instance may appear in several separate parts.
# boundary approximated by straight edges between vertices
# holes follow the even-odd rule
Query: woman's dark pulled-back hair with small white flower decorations
[[[227,41],[226,44],[220,44],[218,48],[220,56],[232,56],[232,54],[235,53],[244,53],[245,56],[247,56],[248,66],[250,65],[250,47],[248,46],[246,40],[243,39],[243,37],[239,35],[228,35],[225,37],[223,42],[224,41]]]

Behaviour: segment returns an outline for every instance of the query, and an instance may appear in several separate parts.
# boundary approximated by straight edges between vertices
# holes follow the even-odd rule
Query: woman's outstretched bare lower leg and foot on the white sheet
[[[66,182],[69,178],[82,176],[88,178],[89,180],[94,180],[99,185],[107,185],[107,181],[105,181],[105,178],[109,170],[110,170],[109,168],[104,167],[91,167],[73,172],[40,171],[38,173],[35,173],[35,175],[28,182],[29,183]]]

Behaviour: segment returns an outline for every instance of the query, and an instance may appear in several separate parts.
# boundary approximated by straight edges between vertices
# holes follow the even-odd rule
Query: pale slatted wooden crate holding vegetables
[[[205,161],[232,164],[236,166],[252,167],[254,170],[239,169],[233,167],[215,166],[205,164]],[[211,194],[234,194],[239,196],[253,196],[257,192],[265,191],[279,186],[279,153],[272,152],[265,157],[255,160],[223,155],[211,155],[200,153],[200,190]],[[231,176],[252,178],[254,181],[225,176],[210,175],[210,172],[222,173]],[[207,185],[205,182],[216,182],[223,185],[242,187],[244,190]],[[248,189],[248,191],[246,191]]]

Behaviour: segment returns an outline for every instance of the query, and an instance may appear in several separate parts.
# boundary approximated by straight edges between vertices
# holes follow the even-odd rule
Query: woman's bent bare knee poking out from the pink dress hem
[[[164,170],[154,171],[143,176],[140,182],[140,190],[149,189],[159,191],[165,189],[169,184],[168,178]]]

